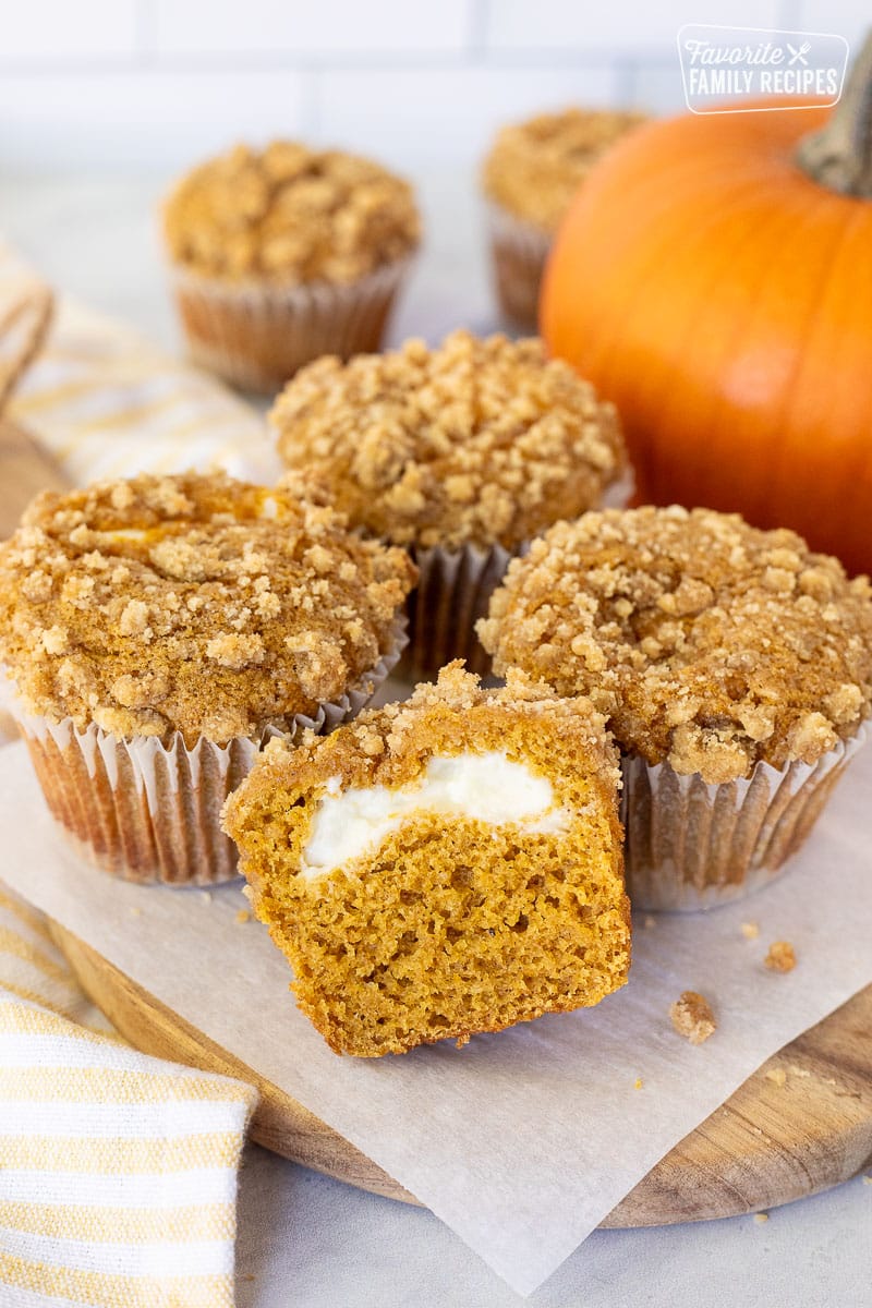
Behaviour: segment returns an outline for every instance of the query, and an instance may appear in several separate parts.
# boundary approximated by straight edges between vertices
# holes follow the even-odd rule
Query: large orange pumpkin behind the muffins
[[[560,230],[541,330],[616,402],[639,502],[739,510],[872,572],[872,200],[831,188],[872,192],[852,88],[804,144],[826,186],[797,164],[817,107],[618,144]]]

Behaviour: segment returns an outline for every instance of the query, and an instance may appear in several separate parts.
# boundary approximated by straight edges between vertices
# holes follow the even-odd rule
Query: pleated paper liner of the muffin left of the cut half
[[[50,722],[14,705],[48,808],[63,835],[86,861],[124,880],[167,886],[214,886],[237,875],[237,849],[220,825],[221,806],[250,772],[271,736],[295,740],[307,727],[333,731],[354,718],[395,667],[405,645],[405,621],[390,653],[335,702],[314,717],[297,714],[288,727],[269,727],[260,742],[227,744],[200,738],[187,747],[176,731],[169,744],[154,736],[122,739],[72,718]]]

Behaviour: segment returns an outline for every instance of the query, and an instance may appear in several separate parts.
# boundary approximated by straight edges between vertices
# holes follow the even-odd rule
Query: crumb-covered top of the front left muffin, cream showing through
[[[38,496],[0,547],[25,709],[192,744],[340,697],[390,649],[414,569],[309,494],[190,472]]]

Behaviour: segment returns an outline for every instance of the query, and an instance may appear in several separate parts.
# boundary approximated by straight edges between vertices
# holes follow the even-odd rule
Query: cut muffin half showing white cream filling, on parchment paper
[[[582,698],[460,663],[230,798],[255,910],[337,1053],[404,1053],[599,1003],[630,961],[617,753]]]

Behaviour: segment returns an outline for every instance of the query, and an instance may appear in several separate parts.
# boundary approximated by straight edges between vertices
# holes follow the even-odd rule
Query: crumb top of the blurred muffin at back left
[[[408,182],[371,160],[272,141],[237,145],[176,184],[163,212],[175,263],[225,281],[345,285],[409,254]]]

